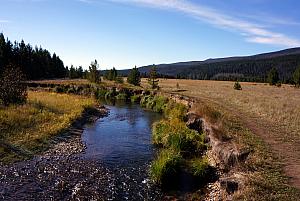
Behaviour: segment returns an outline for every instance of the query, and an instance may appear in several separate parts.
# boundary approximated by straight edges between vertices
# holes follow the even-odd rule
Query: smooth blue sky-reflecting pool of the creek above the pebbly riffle
[[[109,116],[85,128],[84,157],[112,166],[136,166],[149,162],[154,154],[151,127],[161,115],[136,104],[107,105]]]

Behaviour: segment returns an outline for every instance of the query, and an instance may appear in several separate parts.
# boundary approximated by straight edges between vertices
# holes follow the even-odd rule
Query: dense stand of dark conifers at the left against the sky
[[[66,76],[63,61],[54,53],[22,40],[12,43],[0,33],[0,75],[4,68],[12,64],[19,67],[27,79],[62,78]]]

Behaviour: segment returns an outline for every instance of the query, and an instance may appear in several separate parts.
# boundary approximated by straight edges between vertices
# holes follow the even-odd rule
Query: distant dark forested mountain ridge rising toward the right
[[[139,68],[142,74],[147,74],[153,65]],[[277,68],[282,82],[291,82],[292,74],[300,66],[300,48],[290,48],[276,52],[252,56],[237,56],[227,58],[207,59],[204,61],[177,62],[156,65],[162,76],[213,79],[266,81],[271,68]],[[127,75],[129,70],[120,71]]]

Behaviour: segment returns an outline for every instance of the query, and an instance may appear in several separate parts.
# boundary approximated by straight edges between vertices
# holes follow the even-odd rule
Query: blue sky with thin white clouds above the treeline
[[[0,32],[65,65],[133,68],[300,47],[298,0],[0,0]]]

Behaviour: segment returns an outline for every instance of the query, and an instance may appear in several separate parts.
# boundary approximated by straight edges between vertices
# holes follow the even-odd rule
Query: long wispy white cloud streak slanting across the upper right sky
[[[119,3],[131,3],[135,5],[151,6],[159,9],[167,9],[182,12],[197,20],[238,32],[248,42],[279,45],[285,47],[300,46],[300,40],[292,38],[284,33],[274,32],[266,28],[264,24],[241,20],[218,10],[192,3],[187,0],[109,0]]]

